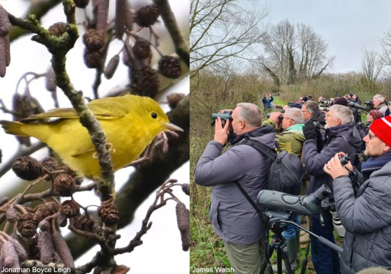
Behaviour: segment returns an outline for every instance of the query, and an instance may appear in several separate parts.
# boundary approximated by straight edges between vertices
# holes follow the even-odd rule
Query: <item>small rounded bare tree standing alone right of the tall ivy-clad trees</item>
[[[364,48],[363,55],[361,56],[361,72],[363,76],[367,80],[375,82],[381,74],[386,60],[382,54]]]

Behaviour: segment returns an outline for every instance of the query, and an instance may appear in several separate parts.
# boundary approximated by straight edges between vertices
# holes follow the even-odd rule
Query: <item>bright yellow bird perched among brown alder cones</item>
[[[88,103],[107,142],[114,171],[136,160],[159,133],[183,131],[169,123],[167,115],[149,97],[125,95],[101,98]],[[59,118],[47,121],[48,118]],[[100,167],[88,131],[72,108],[58,108],[32,115],[21,122],[0,121],[5,132],[35,137],[51,147],[79,175],[99,178]]]

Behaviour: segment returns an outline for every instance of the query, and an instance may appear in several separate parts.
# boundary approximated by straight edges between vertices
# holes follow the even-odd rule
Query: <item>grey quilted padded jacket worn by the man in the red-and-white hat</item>
[[[371,174],[354,197],[350,179],[333,181],[334,199],[346,229],[341,271],[391,270],[391,162]]]

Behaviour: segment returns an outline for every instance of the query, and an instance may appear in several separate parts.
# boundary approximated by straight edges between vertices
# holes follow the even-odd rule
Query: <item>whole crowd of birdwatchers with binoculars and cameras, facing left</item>
[[[265,94],[264,110],[273,109],[272,100],[270,93]],[[251,146],[236,145],[246,138],[272,150],[277,142],[301,158],[309,181],[303,183],[303,194],[323,184],[330,188],[310,216],[310,230],[335,243],[333,231],[338,228],[338,234],[345,234],[344,251],[339,258],[310,237],[317,274],[358,273],[370,267],[391,270],[391,105],[380,94],[361,103],[358,94],[337,95],[330,101],[320,97],[318,102],[307,95],[287,106],[275,105],[283,111],[271,112],[264,121],[259,107],[251,103],[226,110],[232,114],[225,123],[216,116],[214,140],[194,175],[196,183],[212,186],[209,217],[236,273],[263,274],[266,268],[262,220],[236,184],[256,202],[266,186],[271,160]],[[361,121],[362,112],[367,113],[366,122]],[[222,153],[226,143],[230,147]],[[348,163],[341,164],[347,154]],[[290,219],[299,223],[297,213]],[[287,225],[282,235],[290,265],[296,269],[300,231]]]

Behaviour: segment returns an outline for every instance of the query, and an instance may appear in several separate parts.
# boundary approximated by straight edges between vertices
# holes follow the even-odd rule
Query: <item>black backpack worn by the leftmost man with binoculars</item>
[[[240,144],[252,146],[272,160],[266,184],[267,190],[275,190],[291,195],[300,194],[304,179],[304,167],[299,157],[286,150],[281,151],[277,141],[276,147],[279,154],[255,140],[245,138],[235,145]]]

